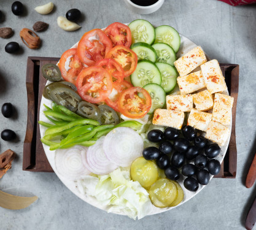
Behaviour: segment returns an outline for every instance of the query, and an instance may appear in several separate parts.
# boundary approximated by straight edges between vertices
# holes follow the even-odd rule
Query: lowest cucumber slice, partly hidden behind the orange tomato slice
[[[152,114],[155,109],[161,109],[165,106],[166,93],[160,85],[157,85],[155,83],[149,83],[143,88],[149,92],[152,99],[152,105],[149,110],[149,114]]]

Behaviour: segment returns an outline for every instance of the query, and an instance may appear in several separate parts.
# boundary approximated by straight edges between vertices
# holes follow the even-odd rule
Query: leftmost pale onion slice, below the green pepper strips
[[[56,171],[68,180],[81,180],[84,175],[91,172],[82,163],[82,154],[88,147],[76,145],[72,148],[55,151]]]

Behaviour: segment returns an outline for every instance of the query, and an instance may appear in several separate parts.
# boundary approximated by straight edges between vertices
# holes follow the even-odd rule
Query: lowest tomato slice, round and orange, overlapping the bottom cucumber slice
[[[142,118],[150,110],[151,97],[147,90],[132,87],[120,93],[117,101],[119,111],[129,118]]]

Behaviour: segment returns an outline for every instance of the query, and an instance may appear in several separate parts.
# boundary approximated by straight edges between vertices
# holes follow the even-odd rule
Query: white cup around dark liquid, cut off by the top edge
[[[130,0],[124,0],[126,6],[135,13],[140,13],[140,14],[148,14],[148,13],[153,13],[157,11],[162,5],[165,0],[158,0],[155,2],[155,4],[152,4],[150,6],[139,6],[131,2]]]

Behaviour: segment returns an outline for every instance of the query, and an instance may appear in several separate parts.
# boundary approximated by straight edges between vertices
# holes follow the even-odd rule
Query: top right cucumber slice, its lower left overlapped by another
[[[155,28],[155,43],[163,42],[170,45],[177,53],[180,47],[180,36],[171,26],[158,26]]]

